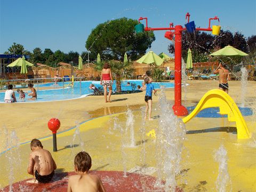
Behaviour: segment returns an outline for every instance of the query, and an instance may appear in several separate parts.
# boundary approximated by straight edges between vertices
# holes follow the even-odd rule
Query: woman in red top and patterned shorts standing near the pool
[[[113,77],[112,77],[110,66],[107,62],[104,64],[103,69],[101,71],[100,84],[104,88],[105,102],[110,102],[110,96],[112,93],[112,85],[113,85]],[[107,100],[107,87],[109,89],[108,100]]]

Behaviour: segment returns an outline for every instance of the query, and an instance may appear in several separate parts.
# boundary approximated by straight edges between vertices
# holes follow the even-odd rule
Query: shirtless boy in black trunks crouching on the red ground
[[[34,175],[38,182],[51,181],[57,166],[48,150],[43,149],[41,141],[33,139],[30,143],[28,174]],[[31,181],[29,181],[31,182]]]

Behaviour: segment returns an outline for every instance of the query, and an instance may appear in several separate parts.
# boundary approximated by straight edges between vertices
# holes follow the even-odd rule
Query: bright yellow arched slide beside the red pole
[[[228,115],[228,121],[236,122],[238,139],[249,139],[251,137],[236,103],[225,91],[219,89],[214,89],[205,93],[196,108],[188,116],[184,117],[182,121],[187,123],[191,118],[195,117],[199,111],[211,107],[219,107],[221,115]]]

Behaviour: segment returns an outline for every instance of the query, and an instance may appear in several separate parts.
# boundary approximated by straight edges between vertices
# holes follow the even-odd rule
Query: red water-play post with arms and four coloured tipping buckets
[[[186,19],[188,22],[185,24],[186,28],[183,28],[181,25],[177,25],[173,27],[173,23],[170,23],[170,27],[166,28],[150,28],[148,27],[148,18],[139,18],[139,24],[135,26],[135,31],[137,33],[142,33],[145,31],[154,31],[154,30],[174,30],[173,31],[166,31],[164,37],[167,39],[172,40],[173,36],[175,35],[175,74],[174,74],[174,105],[172,109],[175,115],[178,116],[186,116],[188,115],[188,110],[186,107],[181,105],[181,50],[182,50],[182,31],[187,30],[189,33],[194,33],[195,30],[203,30],[203,31],[212,31],[210,25],[211,20],[218,20],[218,17],[210,18],[209,19],[209,26],[208,28],[196,28],[195,22],[189,22],[190,14],[186,14]],[[144,28],[143,24],[140,23],[140,20],[146,19],[146,27]],[[213,35],[219,35],[220,33],[220,26],[213,26]]]

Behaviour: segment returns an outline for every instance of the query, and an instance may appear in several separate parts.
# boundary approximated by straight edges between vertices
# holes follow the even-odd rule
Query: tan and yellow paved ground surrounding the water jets
[[[182,103],[186,107],[196,105],[207,91],[218,87],[217,81],[188,81],[187,83],[189,85],[186,90],[182,88]],[[239,106],[241,82],[229,82],[229,87],[229,95]],[[256,103],[255,89],[256,82],[248,82],[245,106],[253,109]],[[146,136],[142,139],[140,134],[141,107],[145,105],[144,94],[142,92],[113,95],[110,103],[104,103],[102,96],[42,103],[0,103],[0,151],[6,150],[17,142],[23,143],[33,138],[44,137],[43,145],[51,151],[52,138],[51,131],[47,129],[47,122],[50,118],[57,117],[61,122],[60,134],[57,136],[59,150],[57,153],[52,153],[58,165],[57,172],[73,171],[75,154],[85,150],[92,156],[92,170],[123,171],[126,167],[127,171],[136,172],[139,170],[138,167],[147,167],[145,173],[156,177],[158,149],[155,139]],[[153,116],[155,117],[159,115],[158,97],[159,94],[153,97]],[[166,98],[173,103],[173,89],[166,90]],[[127,141],[128,137],[121,133],[122,127],[126,126],[126,116],[122,113],[127,111],[127,106],[133,111],[135,118],[136,147],[134,148],[122,148],[123,142]],[[113,116],[113,114],[116,115]],[[186,130],[191,131],[191,134],[186,135],[187,140],[184,142],[185,150],[183,150],[181,161],[182,173],[176,178],[180,188],[184,191],[215,190],[219,165],[214,161],[213,154],[222,144],[228,154],[228,171],[231,180],[228,188],[232,191],[256,190],[255,115],[244,118],[252,133],[252,138],[248,140],[237,140],[234,130],[225,129],[225,127],[232,129],[235,126],[234,123],[228,122],[227,118],[195,117],[186,124]],[[78,129],[67,131],[75,126]],[[147,121],[145,125],[146,132],[157,127],[159,127],[157,118],[153,122]],[[212,131],[214,129],[219,131]],[[198,132],[198,130],[204,131]],[[62,131],[65,132],[61,133]],[[141,141],[145,141],[145,145],[142,145]],[[146,150],[145,155],[141,153],[143,146]],[[0,170],[4,174],[0,177],[0,188],[8,185],[10,181],[17,182],[30,178],[26,173],[29,150],[28,143],[1,154],[0,160],[3,166]],[[145,160],[142,161],[143,156]],[[19,161],[13,159],[19,159]],[[10,172],[13,174],[9,174]]]

